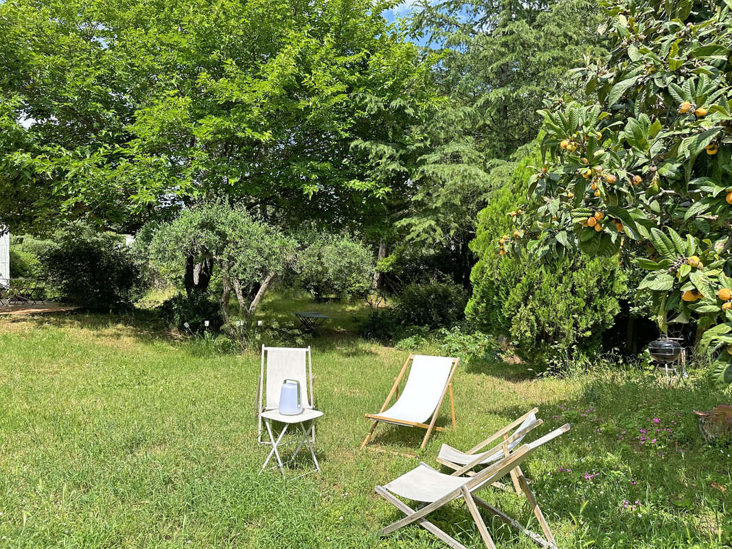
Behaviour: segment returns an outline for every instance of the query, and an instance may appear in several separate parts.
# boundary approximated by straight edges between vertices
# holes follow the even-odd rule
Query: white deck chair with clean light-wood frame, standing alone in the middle
[[[403,378],[409,362],[411,362],[411,369],[404,391],[400,396],[399,382]],[[452,395],[452,376],[455,375],[455,368],[458,367],[459,363],[460,359],[447,356],[410,354],[399,375],[395,378],[392,390],[389,391],[389,396],[384,401],[384,406],[381,406],[378,414],[365,414],[368,419],[373,419],[374,422],[361,447],[363,448],[368,444],[378,422],[384,422],[427,429],[425,438],[422,440],[422,446],[420,446],[420,448],[424,448],[427,446],[427,439],[430,438],[433,430],[443,430],[442,427],[435,427],[435,422],[447,392],[450,396],[452,427],[455,427],[455,399]],[[397,396],[397,401],[387,410],[386,406],[389,406],[389,402],[394,395]],[[430,420],[429,425],[425,423],[428,419]]]

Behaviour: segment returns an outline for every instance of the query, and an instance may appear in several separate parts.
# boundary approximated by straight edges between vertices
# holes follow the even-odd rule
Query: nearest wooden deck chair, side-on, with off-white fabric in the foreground
[[[482,507],[482,509],[485,509],[491,515],[496,516],[498,520],[501,520],[510,526],[514,526],[534,542],[542,545],[542,547],[556,549],[556,540],[554,539],[542,510],[539,508],[537,499],[534,497],[534,493],[531,492],[529,484],[526,482],[523,474],[520,474],[518,477],[519,482],[521,483],[521,488],[526,494],[529,505],[531,505],[531,509],[539,521],[539,525],[541,526],[546,538],[542,538],[539,534],[529,531],[522,526],[518,520],[510,518],[500,509],[496,509],[496,507],[493,507],[481,498],[475,496],[474,492],[484,488],[486,485],[490,485],[498,479],[501,479],[501,477],[504,477],[504,475],[509,473],[509,471],[518,469],[520,464],[528,459],[537,448],[546,444],[548,441],[553,440],[553,438],[560,436],[562,433],[567,433],[568,430],[569,423],[562,425],[559,429],[553,430],[551,433],[548,433],[541,438],[538,438],[531,444],[523,444],[518,449],[515,449],[514,452],[504,458],[501,458],[482,471],[479,471],[472,477],[455,477],[453,475],[443,474],[431,468],[426,463],[420,463],[419,466],[408,473],[403,474],[401,477],[392,480],[389,484],[377,486],[376,493],[406,515],[406,517],[400,518],[399,520],[389,524],[389,526],[386,526],[386,528],[381,529],[381,531],[379,531],[379,535],[386,536],[388,534],[392,534],[403,526],[416,522],[419,526],[422,526],[422,528],[435,534],[436,537],[447,543],[451,548],[467,549],[465,545],[458,542],[457,539],[450,537],[446,532],[439,529],[433,523],[430,523],[426,518],[431,512],[440,509],[450,501],[462,498],[465,501],[474,522],[476,523],[480,537],[487,549],[496,549],[496,544],[488,533],[488,529],[485,526],[485,522],[483,522],[483,518],[480,515],[478,507]],[[414,510],[397,498],[397,496],[414,501],[422,501],[425,505],[420,507],[418,510]]]

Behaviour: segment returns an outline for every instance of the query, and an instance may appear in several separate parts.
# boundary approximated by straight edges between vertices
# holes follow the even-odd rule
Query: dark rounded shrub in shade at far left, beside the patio
[[[140,271],[124,244],[81,223],[58,231],[40,262],[60,299],[89,310],[129,307],[140,289]]]

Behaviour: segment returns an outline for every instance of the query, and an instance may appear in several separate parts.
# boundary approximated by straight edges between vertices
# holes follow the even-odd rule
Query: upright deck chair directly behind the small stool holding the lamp
[[[280,406],[280,391],[285,379],[300,384],[300,402],[303,408],[313,408],[313,363],[310,347],[262,346],[262,362],[259,371],[257,393],[257,440],[259,444],[272,444],[262,439],[262,413]],[[315,443],[315,426],[311,441]]]

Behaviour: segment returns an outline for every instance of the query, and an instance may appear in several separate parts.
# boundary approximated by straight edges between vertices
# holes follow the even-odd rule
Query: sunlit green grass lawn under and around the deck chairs
[[[334,317],[310,341],[323,471],[294,480],[298,470],[259,474],[268,449],[256,444],[258,352],[217,355],[144,315],[0,319],[0,548],[442,548],[417,526],[376,537],[399,514],[374,486],[419,460],[436,465],[442,442],[467,449],[532,406],[545,420],[537,436],[572,423],[524,467],[560,547],[730,541],[731,450],[703,445],[691,414],[728,395],[643,373],[537,378],[474,361],[455,376],[457,429],[417,452],[423,432],[379,427],[376,447],[417,457],[361,451],[363,414],[378,411],[407,352],[350,334],[360,305],[283,300],[263,314]],[[438,425],[449,427],[448,414]],[[523,498],[482,495],[539,531]],[[482,547],[462,504],[432,518]],[[499,548],[535,547],[492,529]]]

